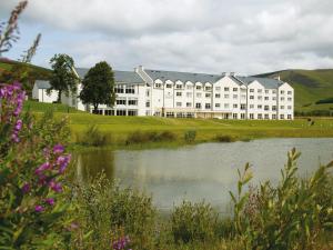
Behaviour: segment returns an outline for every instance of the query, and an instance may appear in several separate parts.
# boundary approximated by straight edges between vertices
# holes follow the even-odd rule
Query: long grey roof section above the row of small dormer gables
[[[178,71],[163,71],[163,70],[151,70],[144,69],[144,71],[153,79],[160,79],[161,81],[171,80],[173,82],[180,80],[182,82],[211,82],[214,83],[222,78],[219,74],[208,74],[208,73],[190,73],[190,72],[178,72]]]

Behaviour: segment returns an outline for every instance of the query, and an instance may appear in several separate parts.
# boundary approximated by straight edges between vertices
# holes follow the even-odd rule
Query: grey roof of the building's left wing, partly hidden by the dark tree
[[[81,79],[88,73],[89,69],[85,68],[77,68],[77,73]],[[138,73],[134,71],[121,71],[121,70],[113,70],[114,73],[114,81],[117,83],[144,83],[144,81],[139,77]]]

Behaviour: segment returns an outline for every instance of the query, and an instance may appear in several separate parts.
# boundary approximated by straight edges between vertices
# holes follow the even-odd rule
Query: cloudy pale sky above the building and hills
[[[0,0],[6,21],[18,0]],[[332,0],[30,0],[19,59],[42,33],[33,63],[54,53],[77,67],[256,74],[333,68]]]

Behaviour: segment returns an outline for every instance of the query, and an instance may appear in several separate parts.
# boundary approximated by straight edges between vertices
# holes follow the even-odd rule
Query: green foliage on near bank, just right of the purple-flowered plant
[[[112,239],[125,234],[133,249],[153,249],[155,209],[151,198],[121,189],[103,174],[78,186],[77,193],[80,230],[74,248],[110,249]]]

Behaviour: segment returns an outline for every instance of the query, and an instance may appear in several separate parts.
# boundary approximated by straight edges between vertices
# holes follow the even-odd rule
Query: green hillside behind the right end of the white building
[[[296,111],[333,109],[333,100],[327,100],[332,103],[315,104],[317,101],[333,98],[333,69],[282,70],[256,77],[274,78],[278,76],[295,89]]]

